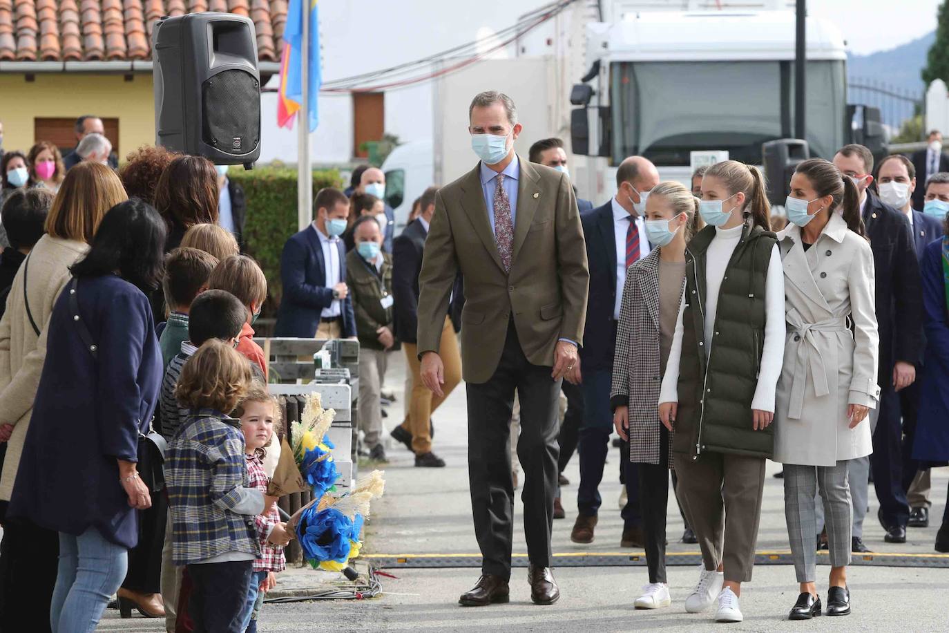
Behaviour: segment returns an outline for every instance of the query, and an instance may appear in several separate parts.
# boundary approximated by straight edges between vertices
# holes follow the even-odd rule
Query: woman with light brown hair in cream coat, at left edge
[[[47,191],[48,190],[44,190]],[[66,174],[46,220],[46,234],[13,278],[0,319],[0,515],[15,489],[36,389],[47,355],[50,315],[69,281],[69,267],[88,250],[102,216],[126,199],[116,173],[84,161]],[[56,583],[59,535],[26,520],[4,522],[0,543],[0,629],[16,630],[24,613],[48,613]],[[30,570],[24,582],[20,569]],[[43,624],[34,630],[49,630]]]

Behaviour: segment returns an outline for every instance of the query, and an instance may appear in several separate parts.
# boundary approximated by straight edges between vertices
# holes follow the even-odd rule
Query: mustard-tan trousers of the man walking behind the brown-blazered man
[[[438,347],[438,356],[445,366],[445,382],[441,385],[441,391],[445,394],[443,397],[436,396],[421,382],[419,345],[403,343],[402,349],[405,350],[405,360],[412,375],[412,395],[411,398],[406,398],[409,400],[409,410],[405,421],[402,422],[402,428],[412,434],[412,450],[415,454],[424,455],[432,452],[432,427],[429,425],[432,412],[448,398],[458,382],[461,382],[461,354],[458,352],[458,340],[452,320],[445,317],[445,326],[441,330],[441,345]]]

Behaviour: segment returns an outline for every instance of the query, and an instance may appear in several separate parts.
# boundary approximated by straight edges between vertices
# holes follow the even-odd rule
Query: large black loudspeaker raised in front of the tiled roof
[[[163,17],[152,35],[156,144],[217,165],[260,158],[260,73],[249,18]]]

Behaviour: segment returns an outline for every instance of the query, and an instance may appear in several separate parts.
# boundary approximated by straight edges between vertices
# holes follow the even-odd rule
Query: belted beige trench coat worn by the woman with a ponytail
[[[788,335],[775,399],[774,460],[833,466],[867,456],[869,420],[850,429],[847,405],[875,408],[880,398],[870,245],[838,214],[807,252],[795,225],[778,240]]]

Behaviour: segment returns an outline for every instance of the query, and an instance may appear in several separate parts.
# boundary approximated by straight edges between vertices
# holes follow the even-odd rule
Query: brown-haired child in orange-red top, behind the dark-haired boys
[[[237,351],[256,363],[264,378],[268,375],[268,363],[264,350],[253,342],[253,322],[260,316],[260,310],[267,299],[267,277],[257,262],[247,255],[231,255],[222,259],[211,272],[208,288],[227,290],[240,299],[247,308],[247,318],[237,341]],[[266,380],[265,380],[266,382]]]

